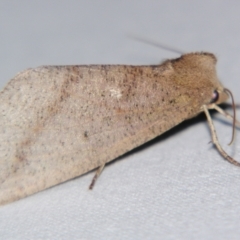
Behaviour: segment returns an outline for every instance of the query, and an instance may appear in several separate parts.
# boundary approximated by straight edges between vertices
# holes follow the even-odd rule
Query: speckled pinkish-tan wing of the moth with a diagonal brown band
[[[79,176],[176,125],[171,109],[161,113],[165,103],[156,97],[164,93],[149,71],[39,67],[12,79],[0,93],[0,204]]]

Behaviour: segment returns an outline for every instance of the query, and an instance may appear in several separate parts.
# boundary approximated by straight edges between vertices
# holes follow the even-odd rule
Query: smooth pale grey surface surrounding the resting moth
[[[1,86],[39,65],[176,57],[125,37],[137,33],[186,52],[215,53],[222,83],[240,102],[239,8],[226,1],[1,1]],[[240,160],[239,137],[227,148],[231,128],[214,123]],[[1,238],[239,239],[240,169],[208,145],[205,121],[189,124],[109,165],[91,192],[93,173],[1,207]]]

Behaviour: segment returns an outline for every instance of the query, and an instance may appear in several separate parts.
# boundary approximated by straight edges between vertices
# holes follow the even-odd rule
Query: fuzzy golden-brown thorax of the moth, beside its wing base
[[[182,55],[165,64],[171,65],[174,71],[173,81],[193,102],[208,104],[212,100],[214,91],[218,91],[219,104],[226,101],[228,96],[218,80],[216,62],[213,54],[200,52]]]

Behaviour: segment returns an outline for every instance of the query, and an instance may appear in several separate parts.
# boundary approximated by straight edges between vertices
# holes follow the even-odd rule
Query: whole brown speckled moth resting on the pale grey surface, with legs
[[[186,119],[230,91],[219,82],[216,57],[196,52],[159,65],[43,66],[17,74],[0,92],[0,205],[98,168]]]

